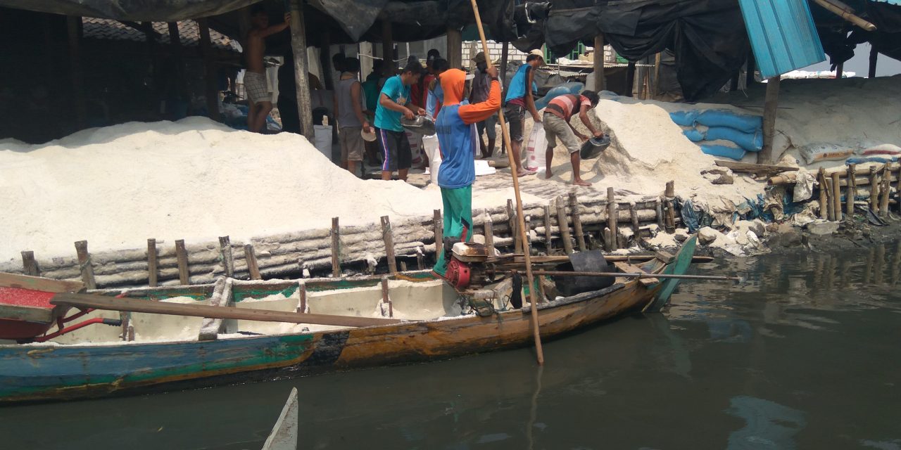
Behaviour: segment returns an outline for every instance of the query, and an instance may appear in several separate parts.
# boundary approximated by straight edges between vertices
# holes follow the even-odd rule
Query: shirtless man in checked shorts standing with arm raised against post
[[[266,84],[266,67],[263,57],[266,55],[266,37],[287,29],[291,23],[291,14],[285,14],[285,23],[269,26],[269,16],[261,4],[255,4],[250,10],[250,23],[253,28],[244,39],[244,89],[247,90],[250,109],[247,113],[247,129],[259,132],[266,124],[266,117],[272,111],[272,94]]]

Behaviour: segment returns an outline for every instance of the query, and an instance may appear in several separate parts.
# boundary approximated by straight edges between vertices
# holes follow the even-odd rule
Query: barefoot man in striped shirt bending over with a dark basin
[[[569,150],[569,162],[572,163],[572,184],[579,186],[590,186],[591,183],[582,179],[579,173],[579,162],[581,158],[578,156],[578,150],[581,143],[578,139],[588,139],[587,136],[578,132],[569,124],[569,118],[578,112],[578,118],[588,128],[589,131],[599,138],[603,135],[600,130],[596,130],[595,126],[588,119],[588,110],[597,105],[597,94],[592,91],[582,91],[582,94],[565,94],[551,100],[547,108],[544,109],[543,125],[544,133],[548,138],[548,149],[545,152],[545,160],[547,167],[545,178],[551,178],[554,174],[551,172],[551,160],[554,157],[554,147],[557,147],[557,139],[563,141],[563,145]],[[578,137],[578,139],[577,139]]]

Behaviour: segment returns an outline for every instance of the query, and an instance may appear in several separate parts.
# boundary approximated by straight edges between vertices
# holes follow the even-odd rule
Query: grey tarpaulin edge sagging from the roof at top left
[[[259,0],[0,0],[0,6],[120,21],[177,22],[228,13],[257,2]]]

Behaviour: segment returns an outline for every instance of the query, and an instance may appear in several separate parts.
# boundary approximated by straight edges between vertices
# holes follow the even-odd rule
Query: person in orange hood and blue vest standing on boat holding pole
[[[466,72],[451,68],[440,76],[444,102],[435,121],[435,133],[441,149],[438,185],[444,203],[445,241],[468,242],[472,238],[472,184],[476,181],[478,151],[478,139],[472,125],[491,117],[501,105],[496,67],[489,66],[487,74],[491,82],[488,98],[472,104],[460,104],[464,99]],[[445,246],[445,250],[451,251],[450,247]],[[435,273],[443,277],[447,263],[443,253],[438,255]]]

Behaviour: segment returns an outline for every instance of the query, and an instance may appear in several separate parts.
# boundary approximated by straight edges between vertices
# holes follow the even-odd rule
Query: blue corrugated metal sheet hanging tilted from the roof
[[[760,75],[769,78],[824,61],[807,0],[739,0]]]

